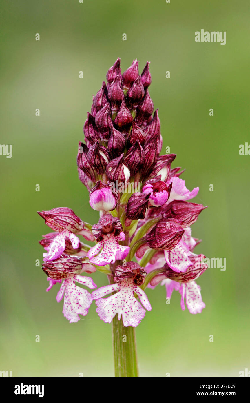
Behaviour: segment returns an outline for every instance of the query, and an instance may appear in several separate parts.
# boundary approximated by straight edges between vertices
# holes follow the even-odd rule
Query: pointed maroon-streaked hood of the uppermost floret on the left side
[[[54,231],[66,229],[72,233],[78,233],[83,229],[81,218],[76,216],[71,208],[57,207],[37,213],[45,220],[45,224]]]

